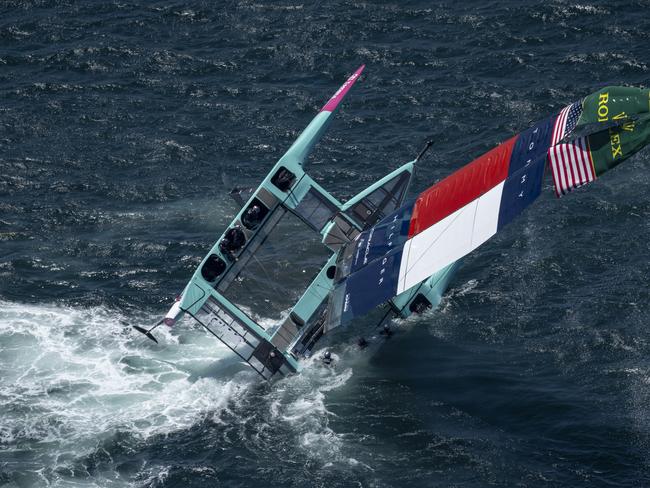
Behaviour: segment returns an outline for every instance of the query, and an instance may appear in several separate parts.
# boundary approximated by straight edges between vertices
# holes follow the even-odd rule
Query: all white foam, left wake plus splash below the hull
[[[232,421],[233,415],[244,425],[250,412],[240,407],[251,395],[255,409],[268,412],[262,422],[270,432],[288,435],[289,445],[324,464],[355,462],[343,454],[344,439],[330,428],[334,414],[326,406],[326,393],[352,376],[348,361],[334,354],[336,366],[324,367],[316,353],[302,374],[278,381],[260,397],[252,370],[219,377],[219,368],[225,371],[236,358],[192,321],[174,330],[159,327],[158,345],[130,327],[157,318],[127,317],[105,307],[0,301],[0,443],[8,452],[30,451],[27,462],[6,466],[9,471],[26,472],[36,484],[67,486],[69,479],[60,473],[101,450],[117,432],[146,441],[204,420]],[[156,466],[151,476],[160,481],[164,468]],[[149,476],[150,467],[142,469],[133,486]],[[108,482],[75,478],[79,486]]]

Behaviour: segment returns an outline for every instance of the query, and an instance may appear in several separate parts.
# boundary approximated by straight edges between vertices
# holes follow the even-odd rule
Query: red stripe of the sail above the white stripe
[[[505,180],[518,137],[508,139],[420,193],[413,207],[409,239]]]

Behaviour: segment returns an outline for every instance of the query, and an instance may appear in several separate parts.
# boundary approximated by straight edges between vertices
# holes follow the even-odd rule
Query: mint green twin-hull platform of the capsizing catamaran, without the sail
[[[360,70],[350,78],[352,82]],[[354,79],[353,79],[354,78]],[[335,94],[298,137],[268,176],[241,201],[242,208],[215,242],[194,272],[183,293],[166,315],[172,325],[184,314],[271,379],[299,370],[299,359],[309,355],[326,332],[326,305],[337,279],[336,262],[342,248],[363,230],[398,208],[406,196],[416,161],[406,163],[346,203],[316,183],[303,169],[305,160],[322,137],[341,93]],[[338,98],[337,98],[338,97]],[[274,327],[264,328],[224,294],[264,245],[275,226],[287,214],[300,218],[320,234],[331,256],[294,304],[289,316]],[[407,317],[437,306],[455,265],[407,290],[389,302],[392,317]]]

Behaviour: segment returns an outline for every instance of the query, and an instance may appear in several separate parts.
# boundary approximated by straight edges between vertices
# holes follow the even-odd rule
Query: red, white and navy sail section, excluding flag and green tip
[[[345,323],[470,253],[540,194],[557,117],[549,117],[423,191],[360,234],[341,262],[330,315]],[[331,324],[334,325],[334,324]]]

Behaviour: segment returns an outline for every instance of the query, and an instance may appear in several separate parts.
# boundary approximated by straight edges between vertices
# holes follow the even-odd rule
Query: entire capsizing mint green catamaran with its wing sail
[[[190,315],[262,377],[299,370],[318,339],[387,306],[384,320],[435,307],[459,260],[541,193],[550,167],[558,196],[590,183],[650,142],[650,91],[607,87],[565,107],[404,204],[418,155],[346,203],[304,170],[305,160],[361,75],[323,106],[203,259],[161,325]],[[548,164],[547,164],[548,163]],[[224,293],[288,214],[320,234],[331,255],[287,318],[265,328]]]

